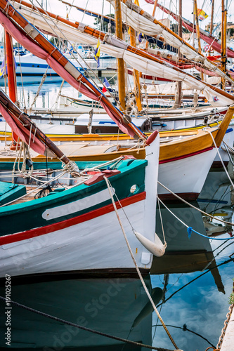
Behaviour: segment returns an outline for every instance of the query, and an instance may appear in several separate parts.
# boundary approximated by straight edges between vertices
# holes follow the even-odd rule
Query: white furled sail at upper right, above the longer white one
[[[114,0],[108,0],[112,6],[115,6]],[[228,80],[231,84],[233,84],[233,79],[229,77],[226,72],[223,72],[219,67],[214,65],[214,63],[207,58],[204,57],[201,53],[199,53],[193,46],[183,41],[182,38],[178,37],[177,34],[171,31],[171,29],[167,28],[160,21],[156,20],[149,13],[143,11],[143,9],[137,5],[135,5],[130,0],[121,0],[122,1],[122,18],[134,29],[143,32],[147,35],[162,35],[165,41],[176,48],[179,48],[181,53],[186,56],[186,58],[190,60],[194,60],[195,62],[202,62],[204,67],[210,69],[211,71],[215,71],[219,74],[219,77],[223,77]]]

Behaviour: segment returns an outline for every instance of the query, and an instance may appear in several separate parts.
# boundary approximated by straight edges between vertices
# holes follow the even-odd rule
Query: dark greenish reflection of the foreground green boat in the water
[[[155,303],[159,303],[162,289],[152,290],[149,277],[145,284]],[[1,295],[4,289],[1,289]],[[147,307],[148,296],[139,279],[34,281],[13,285],[11,300],[89,329],[151,345],[152,310]],[[0,325],[1,335],[4,335],[4,314],[0,316]],[[5,340],[1,338],[0,347],[4,345]],[[124,350],[132,350],[133,345],[88,333],[13,306],[11,348],[57,350],[57,347],[60,347],[59,350],[62,347],[63,350],[69,347],[76,350],[115,347],[113,350],[120,351],[123,347]]]

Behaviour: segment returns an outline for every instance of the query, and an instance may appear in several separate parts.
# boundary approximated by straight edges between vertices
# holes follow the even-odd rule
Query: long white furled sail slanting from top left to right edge
[[[96,37],[92,37],[91,35],[83,32],[84,25],[82,24],[79,26],[81,29],[79,30],[79,28],[76,29],[74,27],[70,27],[69,25],[59,22],[58,20],[53,20],[48,16],[32,11],[30,8],[22,6],[22,4],[14,3],[14,5],[15,8],[35,27],[43,29],[51,34],[54,33],[57,37],[62,39],[68,39],[77,43],[89,44],[94,48],[96,48],[98,44],[98,39]],[[150,25],[152,26],[151,22]],[[127,51],[127,46],[128,44],[126,44],[124,41],[116,39],[115,37],[107,37],[105,44],[103,42],[100,43],[100,51],[103,53],[108,53],[115,58],[123,58],[126,64],[134,67],[139,72],[143,72],[143,74],[164,79],[170,78],[173,81],[183,81],[187,84],[188,88],[194,89],[195,91],[203,91],[209,103],[214,107],[233,104],[234,97],[232,95],[226,94],[228,97],[224,96],[220,90],[218,93],[216,88],[207,86],[204,81],[199,81],[190,74],[186,74],[186,72],[175,68],[173,65],[170,65],[167,62],[155,62],[153,57],[152,60],[150,60],[138,55],[137,53]]]

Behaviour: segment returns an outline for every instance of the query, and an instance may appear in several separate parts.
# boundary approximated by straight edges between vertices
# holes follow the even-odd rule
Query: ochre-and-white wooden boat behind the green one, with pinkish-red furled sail
[[[56,71],[61,74],[64,79],[70,82],[72,86],[79,88],[79,91],[83,91],[86,93],[86,95],[94,98],[95,100],[97,100],[97,96],[98,98],[101,97],[100,102],[102,103],[103,107],[110,114],[110,117],[116,121],[117,125],[122,129],[122,131],[127,131],[132,137],[135,135],[146,139],[144,133],[139,131],[138,128],[131,123],[131,121],[126,123],[126,117],[124,117],[116,107],[112,107],[108,99],[105,98],[105,96],[103,96],[103,94],[98,91],[98,89],[94,87],[74,66],[72,66],[70,62],[64,58],[62,53],[48,43],[46,38],[44,38],[35,27],[30,25],[25,18],[22,18],[20,13],[15,11],[11,5],[8,6],[8,18],[6,18],[4,15],[6,8],[5,3],[6,1],[4,0],[1,0],[0,2],[1,19],[16,40],[20,41],[21,43],[23,42],[24,46],[29,48],[35,54],[46,58],[46,60],[51,64],[51,67],[56,69]],[[13,20],[20,24],[20,30],[15,29]],[[27,39],[22,37],[22,31],[28,33]],[[40,50],[38,49],[38,44],[40,46],[44,46],[43,51],[41,48]],[[60,63],[56,63],[53,57],[57,58]],[[211,90],[209,90],[208,84],[208,86],[204,86],[204,89],[208,89],[210,92],[214,88],[212,87],[210,88]],[[215,88],[214,91],[218,95],[219,93],[222,94],[222,97],[225,95],[225,98],[229,101],[229,103],[233,101],[232,95],[220,91],[220,89],[217,88]],[[226,115],[226,119],[223,120],[220,128],[214,128],[212,131],[214,133],[214,138],[219,139],[216,140],[216,144],[218,146],[221,143],[223,135],[226,132],[226,128],[228,127],[232,117],[233,108],[230,108],[228,114]],[[125,123],[123,123],[124,120]],[[164,145],[162,145],[160,148],[160,177],[162,177],[162,183],[167,185],[169,189],[177,194],[181,194],[183,197],[192,199],[196,198],[202,189],[204,180],[207,177],[207,173],[216,154],[216,149],[214,148],[211,136],[209,133],[203,131],[197,135],[197,138],[186,138],[185,140],[182,140],[182,142],[179,142],[178,140],[171,142],[170,140],[167,141],[169,141],[169,143],[164,143]],[[141,154],[144,154],[144,150],[142,150]],[[115,154],[90,155],[90,157],[91,159],[112,159],[112,157],[115,157],[114,155]],[[197,170],[200,171],[199,176],[197,176]],[[173,178],[171,178],[171,174],[173,174]],[[181,179],[184,180],[183,184],[181,183]],[[159,192],[165,197],[169,197],[170,195],[169,192],[162,190],[162,188]]]

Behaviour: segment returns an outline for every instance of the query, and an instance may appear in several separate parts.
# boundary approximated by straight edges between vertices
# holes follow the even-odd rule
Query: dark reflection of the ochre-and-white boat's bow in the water
[[[197,206],[196,203],[193,205]],[[206,235],[202,214],[190,206],[174,204],[169,209],[174,215],[193,230]],[[188,273],[204,270],[207,265],[213,267],[212,275],[219,291],[223,291],[223,283],[212,252],[209,238],[204,238],[194,232],[188,237],[187,227],[184,226],[167,208],[161,205],[162,223],[164,226],[167,250],[162,258],[155,257],[150,270],[151,274]],[[157,235],[162,238],[162,225],[157,210]]]

